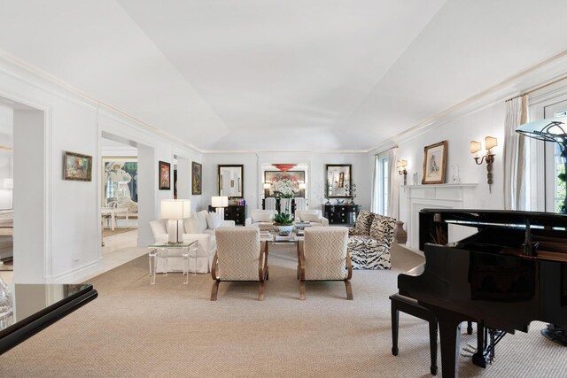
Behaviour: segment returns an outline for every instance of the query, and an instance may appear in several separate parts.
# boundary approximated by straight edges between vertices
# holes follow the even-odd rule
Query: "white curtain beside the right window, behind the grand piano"
[[[516,128],[528,121],[528,95],[510,99],[504,130],[504,209],[525,210],[526,143]]]

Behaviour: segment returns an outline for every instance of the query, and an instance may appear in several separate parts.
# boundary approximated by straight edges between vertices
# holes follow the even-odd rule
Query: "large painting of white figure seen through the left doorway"
[[[104,156],[103,204],[138,202],[138,159],[135,156]]]

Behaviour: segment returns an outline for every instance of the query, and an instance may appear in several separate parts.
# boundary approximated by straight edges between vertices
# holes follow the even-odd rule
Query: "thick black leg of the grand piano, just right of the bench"
[[[440,308],[435,313],[439,320],[441,339],[441,373],[443,378],[453,378],[459,373],[462,317]]]

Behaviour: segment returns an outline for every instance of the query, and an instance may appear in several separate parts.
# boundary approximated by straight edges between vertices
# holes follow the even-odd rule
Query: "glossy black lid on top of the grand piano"
[[[431,215],[434,222],[445,222],[474,228],[505,227],[530,228],[567,231],[567,214],[553,212],[519,212],[511,210],[478,209],[422,209],[423,214]]]

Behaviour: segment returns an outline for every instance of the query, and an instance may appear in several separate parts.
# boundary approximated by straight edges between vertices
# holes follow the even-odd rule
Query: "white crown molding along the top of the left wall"
[[[124,120],[128,120],[129,126],[136,125],[136,127],[138,127],[138,129],[140,130],[145,129],[145,133],[153,133],[161,136],[165,139],[164,142],[183,145],[185,148],[189,148],[190,150],[195,150],[202,153],[201,150],[199,150],[192,144],[179,143],[179,138],[176,138],[174,135],[169,135],[160,128],[154,127],[151,124],[144,122],[143,120],[139,120],[135,116],[129,114],[128,112],[120,110],[112,104],[105,103],[105,101],[90,96],[81,89],[77,89],[66,81],[62,81],[61,79],[58,79],[56,76],[51,75],[50,73],[46,73],[19,58],[13,57],[4,50],[0,50],[0,72],[5,73],[6,75],[11,76],[12,78],[15,78],[19,81],[23,81],[27,83],[27,85],[30,85],[35,89],[49,92],[54,96],[58,96],[59,98],[65,99],[74,104],[80,104],[82,106],[92,108],[93,111],[96,111],[97,107],[100,107],[100,110],[105,110],[109,113],[112,112],[114,116],[120,116]],[[27,101],[23,99],[20,100],[15,98],[15,100],[21,102],[22,104],[27,104]],[[30,104],[30,106],[34,105]]]

